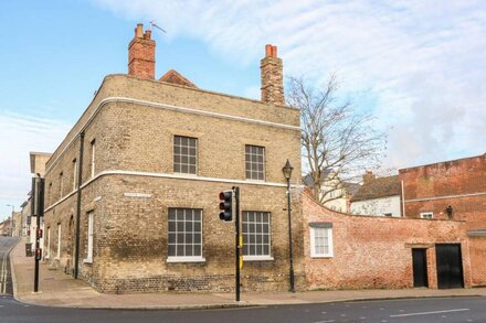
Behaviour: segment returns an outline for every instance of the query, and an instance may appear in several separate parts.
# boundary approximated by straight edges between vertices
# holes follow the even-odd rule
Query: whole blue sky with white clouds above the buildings
[[[286,77],[337,73],[388,136],[383,168],[486,152],[484,1],[1,1],[0,219],[27,198],[29,152],[54,151],[152,20],[167,31],[152,31],[156,77],[257,99],[267,43]]]

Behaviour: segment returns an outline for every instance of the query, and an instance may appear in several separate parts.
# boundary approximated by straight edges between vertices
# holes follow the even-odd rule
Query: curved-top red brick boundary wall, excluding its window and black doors
[[[471,286],[465,223],[356,216],[303,196],[305,267],[310,289],[410,288],[412,248],[427,248],[429,286],[437,287],[435,244],[461,244],[464,283]],[[310,258],[309,223],[332,223],[334,257]]]

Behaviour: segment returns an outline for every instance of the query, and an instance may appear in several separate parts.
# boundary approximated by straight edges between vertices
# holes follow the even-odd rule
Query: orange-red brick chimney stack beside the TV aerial
[[[137,24],[135,36],[128,45],[128,75],[154,79],[156,75],[156,42],[151,31],[144,33],[144,25]]]

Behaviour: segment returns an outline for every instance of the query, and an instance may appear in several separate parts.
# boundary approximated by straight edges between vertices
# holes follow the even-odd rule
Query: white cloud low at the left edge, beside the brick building
[[[71,125],[0,111],[0,205],[19,209],[30,191],[30,151],[52,152]]]

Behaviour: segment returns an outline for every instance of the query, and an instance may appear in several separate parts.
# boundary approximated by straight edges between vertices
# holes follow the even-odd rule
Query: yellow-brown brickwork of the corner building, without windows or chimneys
[[[151,104],[109,101],[128,97]],[[55,263],[72,270],[68,223],[76,218],[76,194],[72,191],[73,159],[78,160],[78,130],[85,129],[80,269],[82,277],[105,292],[155,290],[231,290],[234,287],[234,225],[219,219],[218,193],[241,187],[242,211],[271,212],[274,260],[246,261],[243,289],[286,290],[288,288],[288,227],[286,187],[282,166],[294,165],[293,183],[300,177],[298,129],[285,129],[228,118],[187,114],[157,104],[186,107],[242,118],[298,127],[298,110],[258,101],[190,89],[129,76],[108,76],[87,111],[75,125],[47,164],[46,185],[52,198],[45,213],[51,226],[51,249],[56,250],[56,224],[62,224],[61,259]],[[91,117],[94,116],[94,117]],[[92,118],[89,122],[87,122]],[[173,175],[173,136],[198,138],[198,176]],[[91,144],[96,140],[96,173],[91,181]],[[70,144],[71,142],[71,144]],[[222,144],[224,142],[224,146]],[[246,183],[245,144],[265,147],[265,183]],[[64,201],[60,202],[59,173],[63,172]],[[150,175],[151,174],[151,175]],[[225,183],[224,181],[229,181]],[[88,184],[86,184],[88,183]],[[262,185],[264,184],[264,185]],[[70,193],[71,192],[71,193]],[[126,197],[124,193],[146,193],[150,197]],[[304,283],[302,211],[296,191],[293,206],[294,255],[297,282]],[[49,193],[47,193],[49,194]],[[71,195],[70,195],[71,194]],[[99,200],[99,197],[101,200]],[[98,197],[99,201],[95,202]],[[202,263],[167,263],[167,218],[169,207],[203,209]],[[95,213],[94,261],[83,263],[87,244],[88,211]],[[74,238],[74,237],[72,237]],[[68,260],[71,259],[71,260]]]

